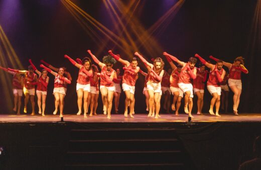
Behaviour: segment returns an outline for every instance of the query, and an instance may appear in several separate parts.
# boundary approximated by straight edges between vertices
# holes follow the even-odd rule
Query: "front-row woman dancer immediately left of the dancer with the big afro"
[[[83,116],[87,117],[87,106],[88,106],[88,96],[90,92],[90,76],[92,76],[91,69],[91,60],[89,57],[84,57],[82,59],[82,64],[77,63],[68,55],[64,55],[65,58],[69,59],[69,61],[79,68],[76,91],[77,91],[77,103],[78,103],[78,112],[77,115],[80,115],[82,112],[82,98],[83,98]]]

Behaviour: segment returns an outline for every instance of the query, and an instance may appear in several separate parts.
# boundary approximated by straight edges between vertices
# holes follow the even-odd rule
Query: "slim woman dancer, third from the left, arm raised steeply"
[[[42,72],[40,72],[33,64],[31,59],[29,59],[29,62],[32,65],[33,69],[36,71],[36,73],[39,75],[36,88],[37,104],[39,108],[38,113],[42,114],[42,116],[45,116],[45,100],[47,95],[47,85],[49,82],[49,76],[47,76],[46,69],[42,69]]]

